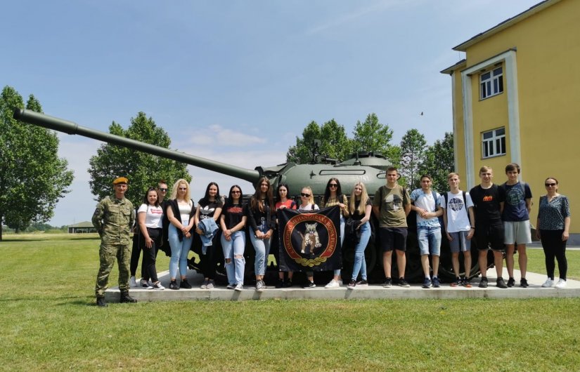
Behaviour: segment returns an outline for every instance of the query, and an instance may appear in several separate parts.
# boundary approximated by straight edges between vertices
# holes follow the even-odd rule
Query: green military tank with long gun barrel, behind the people
[[[82,135],[84,137],[93,138],[95,140],[108,142],[113,145],[128,147],[132,150],[147,152],[148,154],[165,157],[167,159],[173,159],[175,161],[191,164],[193,166],[198,166],[200,168],[215,171],[217,173],[230,175],[232,177],[251,182],[254,187],[257,185],[260,177],[266,176],[269,178],[274,190],[276,190],[276,187],[278,187],[280,183],[288,184],[292,192],[290,197],[294,199],[299,199],[298,196],[300,190],[302,187],[308,185],[312,188],[314,194],[316,195],[317,202],[320,201],[322,195],[324,194],[328,180],[333,177],[340,180],[342,192],[347,194],[347,196],[349,196],[349,192],[352,190],[356,182],[364,182],[367,187],[368,194],[372,198],[375,194],[375,191],[378,190],[378,188],[382,185],[385,185],[386,171],[387,168],[391,166],[389,161],[378,152],[358,152],[356,154],[352,154],[349,159],[346,159],[345,161],[329,159],[328,157],[318,154],[318,146],[315,144],[312,150],[312,161],[310,164],[295,164],[288,162],[277,166],[257,166],[254,169],[247,169],[233,166],[231,164],[220,163],[219,161],[214,161],[211,159],[193,156],[184,152],[169,150],[163,147],[150,145],[148,143],[112,135],[110,133],[96,131],[91,128],[79,126],[72,121],[51,117],[46,114],[39,114],[38,112],[33,112],[27,109],[16,109],[14,112],[14,119],[24,121],[28,124],[49,128],[53,131],[60,131],[70,135]],[[414,228],[416,226],[415,213],[413,211],[409,213],[407,223],[409,230],[407,239],[407,264],[405,276],[408,281],[422,281],[423,269],[420,265],[420,253],[417,243],[416,229]],[[373,230],[376,231],[378,223],[374,216],[373,225],[375,227]],[[380,251],[380,248],[378,248],[379,244],[377,242],[377,238],[378,234],[373,234],[373,238],[370,239],[365,251],[368,277],[371,282],[380,282],[382,279],[384,279],[384,274],[382,272],[382,259],[378,259],[382,258],[382,252]],[[440,263],[439,272],[441,277],[453,278],[454,276],[453,270],[451,268],[451,257],[449,255],[449,242],[446,241],[445,237],[443,238],[444,239],[442,241],[441,249],[442,262]],[[472,244],[472,256],[477,257],[477,248],[474,246],[475,244]],[[246,267],[249,270],[253,270],[252,263],[254,249],[251,246],[250,239],[247,239],[246,248],[246,256],[248,261]],[[271,251],[277,253],[277,241],[273,241]],[[350,270],[352,270],[352,263],[354,262],[354,247],[349,246],[348,244],[344,244],[342,251],[344,263],[343,277],[348,278],[350,277]],[[277,257],[277,254],[275,256]],[[394,256],[395,255],[393,255],[393,258]],[[395,261],[396,260],[394,260],[392,267],[393,277],[397,275],[397,263]],[[492,257],[488,260],[488,262],[490,261],[493,263]],[[461,265],[463,265],[463,263]],[[191,261],[190,266],[193,269],[198,270],[198,265],[195,263],[195,260]],[[271,266],[271,271],[277,271],[276,265]],[[470,277],[474,277],[477,274],[479,274],[479,268],[477,263],[474,263],[474,267],[470,272]]]

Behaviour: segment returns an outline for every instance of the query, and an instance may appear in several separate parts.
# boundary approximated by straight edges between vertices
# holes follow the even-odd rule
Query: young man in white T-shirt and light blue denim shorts
[[[441,195],[431,190],[431,176],[421,176],[421,188],[411,192],[411,209],[417,213],[417,240],[421,253],[421,266],[425,280],[423,288],[431,284],[439,287],[439,255],[441,254],[441,224],[439,216],[443,214]],[[429,273],[429,254],[433,265],[433,280]]]

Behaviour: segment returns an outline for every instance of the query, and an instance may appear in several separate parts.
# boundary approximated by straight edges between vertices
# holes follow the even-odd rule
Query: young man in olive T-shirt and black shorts
[[[407,215],[411,212],[408,191],[399,185],[397,168],[387,169],[387,185],[375,192],[373,212],[379,220],[380,244],[382,247],[382,267],[385,270],[384,287],[392,286],[391,260],[393,250],[397,252],[399,286],[408,287],[405,280]]]

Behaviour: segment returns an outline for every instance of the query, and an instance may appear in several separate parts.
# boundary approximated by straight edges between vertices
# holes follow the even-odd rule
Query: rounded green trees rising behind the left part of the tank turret
[[[310,163],[315,148],[314,140],[321,141],[318,154],[333,159],[346,159],[352,150],[344,126],[337,124],[334,119],[326,121],[322,126],[318,126],[316,121],[311,121],[302,131],[302,138],[297,137],[296,145],[288,148],[286,161],[297,164]]]

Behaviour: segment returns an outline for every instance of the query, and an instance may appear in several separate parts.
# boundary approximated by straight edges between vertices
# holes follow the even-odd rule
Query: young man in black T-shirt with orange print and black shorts
[[[491,245],[494,252],[498,288],[508,288],[501,277],[503,269],[503,222],[501,212],[505,196],[503,190],[491,182],[494,172],[488,166],[479,169],[479,178],[482,182],[470,190],[471,199],[475,206],[475,241],[479,250],[479,269],[482,270],[482,280],[479,288],[487,288],[487,251]]]

